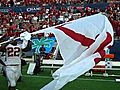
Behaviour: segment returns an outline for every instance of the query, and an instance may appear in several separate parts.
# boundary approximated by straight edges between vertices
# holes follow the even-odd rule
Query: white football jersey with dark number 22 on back
[[[12,45],[9,44],[6,47],[6,65],[17,65],[21,64],[21,55],[22,55],[22,48],[21,45]]]

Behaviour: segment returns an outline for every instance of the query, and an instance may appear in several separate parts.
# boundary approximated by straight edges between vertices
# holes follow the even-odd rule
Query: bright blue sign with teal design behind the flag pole
[[[35,39],[32,39],[32,50],[35,52],[35,53],[40,53],[40,48],[42,45],[44,45],[45,49],[46,49],[46,53],[49,53],[53,46],[54,46],[54,43],[55,43],[55,37],[51,37],[51,38],[35,38]]]

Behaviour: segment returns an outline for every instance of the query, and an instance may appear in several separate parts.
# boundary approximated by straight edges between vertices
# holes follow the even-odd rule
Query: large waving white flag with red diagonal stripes
[[[96,14],[33,32],[52,32],[59,45],[64,65],[53,73],[54,80],[40,90],[59,90],[93,68],[113,44],[113,28],[108,18]]]

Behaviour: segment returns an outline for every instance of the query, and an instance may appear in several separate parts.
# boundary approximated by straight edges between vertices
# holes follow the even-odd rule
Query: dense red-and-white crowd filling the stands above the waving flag
[[[1,0],[1,7],[40,5],[40,10],[37,13],[0,12],[0,33],[6,33],[7,36],[19,36],[23,31],[34,32],[101,12],[110,19],[115,35],[120,36],[120,4],[110,2],[104,10],[83,6],[84,3],[97,2],[107,2],[107,0]],[[45,8],[48,4],[51,6]],[[58,8],[58,4],[61,7]],[[69,5],[65,7],[66,4]],[[73,4],[79,4],[79,8]]]

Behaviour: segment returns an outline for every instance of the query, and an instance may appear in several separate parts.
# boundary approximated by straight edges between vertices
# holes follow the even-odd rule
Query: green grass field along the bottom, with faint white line
[[[27,75],[27,68],[27,65],[23,67],[22,81],[17,83],[18,90],[39,90],[52,80],[49,69],[38,75]],[[2,75],[0,75],[0,90],[7,90],[7,80]],[[115,77],[80,76],[61,90],[120,90],[120,83],[115,82]]]

